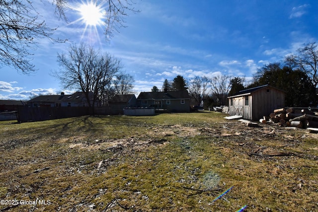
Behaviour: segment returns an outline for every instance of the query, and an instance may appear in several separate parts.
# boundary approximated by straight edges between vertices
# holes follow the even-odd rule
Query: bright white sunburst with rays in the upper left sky
[[[103,8],[103,4],[98,3],[96,0],[86,0],[81,1],[81,3],[76,4],[76,6],[71,6],[71,8],[77,11],[80,16],[73,23],[82,23],[85,25],[81,39],[85,35],[88,35],[90,39],[92,37],[97,37],[100,42],[97,27],[102,28],[105,25],[106,11]]]

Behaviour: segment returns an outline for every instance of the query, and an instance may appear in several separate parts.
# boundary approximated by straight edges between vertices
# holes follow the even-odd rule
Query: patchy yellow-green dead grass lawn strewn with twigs
[[[0,211],[318,211],[317,134],[223,116],[0,123],[0,199],[51,203]]]

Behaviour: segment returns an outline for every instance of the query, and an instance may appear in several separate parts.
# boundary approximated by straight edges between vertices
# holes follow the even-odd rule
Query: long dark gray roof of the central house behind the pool
[[[190,99],[188,91],[141,92],[137,100]]]

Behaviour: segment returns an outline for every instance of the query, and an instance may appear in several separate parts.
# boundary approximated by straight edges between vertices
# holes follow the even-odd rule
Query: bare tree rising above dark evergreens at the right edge
[[[297,50],[296,55],[285,58],[285,62],[291,68],[299,68],[312,79],[315,87],[318,85],[318,49],[316,42],[304,44]]]

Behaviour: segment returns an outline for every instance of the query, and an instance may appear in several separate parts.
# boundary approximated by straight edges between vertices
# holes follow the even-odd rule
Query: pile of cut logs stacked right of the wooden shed
[[[297,128],[318,128],[318,112],[312,111],[311,108],[280,108],[275,109],[268,117],[264,116],[259,122]]]

